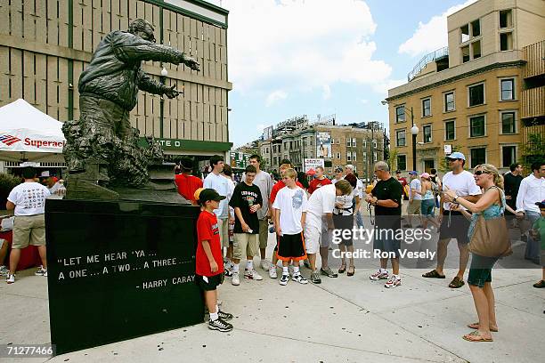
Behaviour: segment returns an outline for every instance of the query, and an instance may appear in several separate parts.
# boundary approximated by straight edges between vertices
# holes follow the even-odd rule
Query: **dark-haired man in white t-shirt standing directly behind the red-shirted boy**
[[[207,177],[203,181],[203,187],[216,190],[220,196],[227,197],[231,188],[229,185],[230,182],[221,174],[224,171],[224,157],[219,155],[210,157],[210,165],[212,165],[212,172],[207,174]],[[219,207],[214,210],[214,213],[217,217],[217,227],[220,232],[222,248],[227,250],[224,263],[229,263],[232,256],[232,246],[229,247],[229,204],[226,198],[220,202]]]

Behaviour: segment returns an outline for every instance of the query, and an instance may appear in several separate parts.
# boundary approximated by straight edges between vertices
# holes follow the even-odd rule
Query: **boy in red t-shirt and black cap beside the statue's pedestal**
[[[205,303],[210,312],[208,328],[229,332],[232,325],[225,320],[232,319],[232,314],[220,311],[217,307],[217,286],[224,282],[224,257],[219,238],[217,217],[214,209],[219,207],[220,196],[216,190],[201,189],[195,192],[199,205],[203,207],[197,221],[197,254],[196,269],[197,283],[204,291]]]

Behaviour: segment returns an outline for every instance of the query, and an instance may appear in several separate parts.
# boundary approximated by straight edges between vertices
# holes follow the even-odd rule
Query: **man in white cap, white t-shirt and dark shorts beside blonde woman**
[[[460,198],[476,203],[481,196],[481,189],[476,185],[473,174],[464,170],[464,165],[466,164],[464,154],[453,152],[447,157],[447,162],[451,168],[451,172],[443,176],[443,191],[456,190],[456,194]],[[443,203],[443,197],[441,201],[441,213],[439,214],[441,229],[439,232],[439,241],[437,242],[437,267],[435,270],[423,274],[422,277],[445,278],[443,266],[447,256],[447,247],[451,238],[456,238],[458,249],[460,250],[460,265],[458,274],[452,279],[449,287],[458,288],[465,284],[464,272],[468,266],[469,221],[460,211],[451,211],[451,203]]]

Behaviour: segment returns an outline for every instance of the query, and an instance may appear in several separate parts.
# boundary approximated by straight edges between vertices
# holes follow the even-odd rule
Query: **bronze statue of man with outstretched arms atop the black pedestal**
[[[145,186],[148,166],[163,162],[162,149],[152,138],[148,148],[138,146],[140,133],[130,125],[129,112],[139,90],[168,98],[179,93],[146,75],[142,61],[183,63],[193,70],[199,70],[199,63],[173,47],[155,44],[153,30],[148,21],[138,19],[128,30],[104,36],[79,77],[80,118],[62,126],[73,196],[116,198],[104,186]]]

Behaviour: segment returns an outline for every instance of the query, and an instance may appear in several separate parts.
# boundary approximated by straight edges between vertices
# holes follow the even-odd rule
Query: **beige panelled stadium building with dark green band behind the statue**
[[[60,121],[77,119],[77,81],[96,45],[137,18],[150,21],[158,43],[197,58],[201,70],[146,62],[151,77],[159,80],[164,67],[162,80],[184,93],[168,100],[141,92],[132,125],[159,139],[170,159],[226,155],[228,12],[202,0],[0,1],[0,107],[22,98]]]

